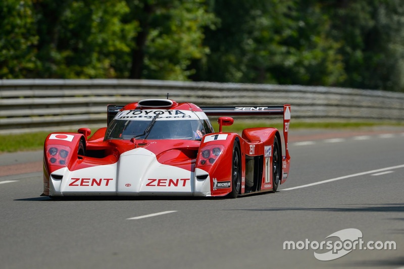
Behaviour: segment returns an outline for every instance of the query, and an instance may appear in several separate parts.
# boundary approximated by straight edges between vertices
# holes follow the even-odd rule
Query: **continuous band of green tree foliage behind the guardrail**
[[[2,0],[0,78],[404,91],[404,0]]]

